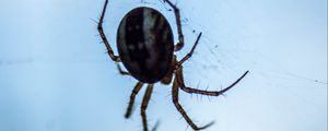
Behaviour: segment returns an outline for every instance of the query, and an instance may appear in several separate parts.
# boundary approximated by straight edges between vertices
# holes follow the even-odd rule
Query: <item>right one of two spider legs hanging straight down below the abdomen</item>
[[[148,131],[148,122],[147,122],[147,116],[145,116],[145,109],[148,107],[150,97],[153,92],[153,84],[149,84],[145,91],[145,94],[143,96],[142,105],[141,105],[141,117],[142,117],[142,124],[143,124],[143,131]]]

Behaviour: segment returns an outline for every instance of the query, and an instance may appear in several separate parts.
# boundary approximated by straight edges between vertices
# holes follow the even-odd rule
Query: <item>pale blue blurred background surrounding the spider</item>
[[[124,119],[136,80],[118,74],[98,44],[104,0],[0,1],[1,131],[141,131],[143,92]],[[220,90],[250,73],[224,96],[180,92],[180,103],[209,131],[327,131],[327,0],[178,0],[186,46],[203,33],[185,63],[186,84]],[[160,1],[110,0],[104,28],[116,49],[121,17]],[[192,33],[195,31],[195,33]],[[177,34],[175,32],[175,39]],[[143,90],[144,91],[144,90]],[[155,85],[150,127],[190,130],[171,86]]]

